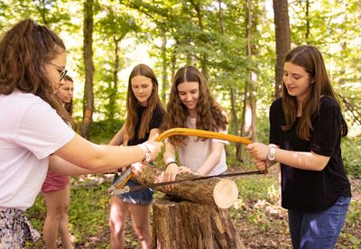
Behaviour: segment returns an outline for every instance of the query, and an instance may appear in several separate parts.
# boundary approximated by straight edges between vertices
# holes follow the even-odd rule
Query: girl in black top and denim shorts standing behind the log
[[[136,145],[159,133],[165,111],[158,96],[157,78],[147,65],[135,66],[129,76],[126,109],[125,124],[109,144]],[[125,185],[134,186],[138,183],[128,180]],[[110,248],[124,247],[125,217],[128,210],[141,248],[151,248],[149,208],[152,200],[152,189],[125,193],[112,198],[109,217]]]

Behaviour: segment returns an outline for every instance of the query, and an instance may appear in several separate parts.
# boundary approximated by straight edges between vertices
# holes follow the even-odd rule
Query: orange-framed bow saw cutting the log
[[[172,128],[170,130],[167,130],[163,132],[162,134],[159,134],[159,136],[156,138],[157,142],[162,142],[164,139],[173,136],[173,135],[188,135],[188,136],[198,136],[198,137],[205,137],[205,138],[214,138],[219,140],[226,140],[229,142],[235,142],[235,143],[244,143],[244,144],[250,144],[253,143],[251,140],[236,136],[232,134],[219,134],[216,132],[208,132],[204,130],[199,129],[190,129],[190,128]],[[173,185],[173,184],[179,184],[185,181],[195,181],[195,180],[208,180],[212,178],[227,178],[227,177],[236,177],[236,176],[245,176],[245,175],[257,175],[257,174],[267,174],[268,171],[243,171],[243,172],[234,172],[234,173],[227,173],[227,174],[221,174],[221,175],[215,175],[215,176],[197,176],[189,179],[183,179],[183,180],[172,180],[172,181],[164,181],[164,182],[158,182],[158,183],[149,183],[144,185],[138,185],[138,186],[125,186],[126,181],[128,181],[132,176],[132,169],[131,167],[127,167],[125,171],[121,173],[119,178],[112,184],[112,186],[108,189],[108,194],[110,196],[115,196],[118,194],[124,194],[127,192],[133,192],[138,191],[141,189],[148,189],[148,188],[156,188],[166,185]]]

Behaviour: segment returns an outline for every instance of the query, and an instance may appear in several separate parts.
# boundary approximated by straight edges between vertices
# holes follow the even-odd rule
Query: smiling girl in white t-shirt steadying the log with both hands
[[[197,128],[227,134],[227,115],[208,88],[206,78],[195,67],[177,71],[171,85],[163,129]],[[162,181],[175,180],[179,172],[198,175],[218,175],[227,171],[227,142],[193,136],[172,136],[165,143],[163,160],[166,170]],[[175,161],[178,149],[180,167]]]

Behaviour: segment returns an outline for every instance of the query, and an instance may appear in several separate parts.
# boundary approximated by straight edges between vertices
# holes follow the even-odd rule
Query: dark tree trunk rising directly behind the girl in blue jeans
[[[290,21],[287,0],[273,0],[274,26],[276,34],[276,68],[274,78],[275,98],[281,97],[283,60],[291,48]]]

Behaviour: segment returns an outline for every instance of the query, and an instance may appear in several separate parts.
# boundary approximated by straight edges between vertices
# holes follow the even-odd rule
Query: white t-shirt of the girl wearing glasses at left
[[[32,206],[49,167],[49,155],[75,133],[33,94],[0,95],[0,208]]]

